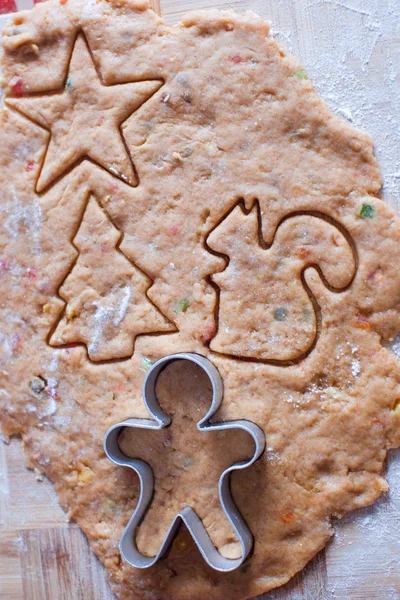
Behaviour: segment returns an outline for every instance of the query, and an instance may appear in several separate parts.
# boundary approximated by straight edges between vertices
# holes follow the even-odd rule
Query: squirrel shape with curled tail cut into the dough
[[[219,307],[210,348],[238,358],[299,360],[315,345],[319,319],[304,270],[316,268],[329,290],[343,291],[355,275],[355,250],[339,224],[311,213],[288,215],[267,246],[257,208],[247,213],[237,205],[207,239],[229,257],[211,278]]]

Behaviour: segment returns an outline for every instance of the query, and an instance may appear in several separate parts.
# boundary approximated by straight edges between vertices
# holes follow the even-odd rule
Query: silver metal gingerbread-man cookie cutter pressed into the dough
[[[253,457],[248,461],[237,462],[227,468],[219,479],[219,498],[227,516],[231,523],[236,536],[241,545],[242,555],[237,559],[229,559],[223,557],[217,548],[212,543],[201,519],[190,506],[185,506],[179,511],[168,532],[165,536],[160,550],[154,557],[145,556],[139,552],[136,546],[135,534],[136,529],[140,525],[144,515],[150,506],[154,493],[154,475],[150,465],[140,459],[130,458],[126,456],[118,445],[118,438],[125,427],[141,428],[141,429],[162,429],[171,423],[171,418],[163,412],[158,404],[155,387],[157,378],[160,372],[171,362],[175,360],[188,360],[199,365],[208,375],[212,384],[212,402],[208,413],[197,423],[199,431],[221,431],[225,429],[243,429],[249,433],[255,443],[255,452]],[[247,527],[242,515],[236,507],[230,491],[230,474],[232,471],[245,469],[252,465],[263,453],[265,448],[265,437],[263,431],[251,421],[227,421],[221,423],[210,423],[210,418],[217,411],[222,402],[223,386],[221,377],[214,365],[199,354],[173,354],[166,356],[156,362],[148,371],[143,384],[143,399],[154,420],[151,419],[127,419],[122,423],[118,423],[111,427],[106,433],[104,440],[104,448],[107,456],[117,465],[130,467],[139,476],[140,480],[140,496],[139,502],[133,513],[120,542],[120,551],[122,557],[132,566],[138,569],[145,569],[153,566],[159,558],[161,558],[168,550],[174,537],[178,533],[181,522],[185,523],[194,542],[200,550],[207,564],[217,571],[233,571],[237,569],[249,555],[253,547],[253,536]]]

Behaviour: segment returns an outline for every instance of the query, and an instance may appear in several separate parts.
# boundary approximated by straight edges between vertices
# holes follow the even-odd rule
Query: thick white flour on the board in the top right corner
[[[257,9],[257,2],[250,0]],[[399,206],[400,2],[266,0],[273,35],[303,62],[332,110],[375,142],[384,196]],[[298,30],[298,35],[294,32]],[[312,43],[305,35],[313,35]],[[303,35],[302,35],[303,33]]]

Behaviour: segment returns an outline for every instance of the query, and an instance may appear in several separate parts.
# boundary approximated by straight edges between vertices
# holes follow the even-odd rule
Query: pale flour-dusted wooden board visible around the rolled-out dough
[[[161,7],[168,23],[189,9],[211,7],[253,9],[271,20],[331,107],[353,113],[354,124],[373,135],[386,199],[398,208],[400,100],[390,87],[400,80],[396,2],[161,0]],[[156,9],[159,4],[153,0]],[[338,103],[331,93],[335,60],[354,75],[362,94],[344,94]],[[264,600],[400,600],[399,452],[390,454],[388,465],[391,494],[346,517],[329,547]],[[19,440],[0,443],[0,600],[112,599],[102,566],[78,527],[67,523],[51,484],[24,467]]]

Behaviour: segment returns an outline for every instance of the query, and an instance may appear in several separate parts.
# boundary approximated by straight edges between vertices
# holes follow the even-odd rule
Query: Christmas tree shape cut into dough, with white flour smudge
[[[67,303],[50,345],[84,343],[93,361],[132,356],[135,338],[175,331],[146,295],[151,280],[119,249],[122,234],[93,196],[73,240],[79,255],[59,289]]]

